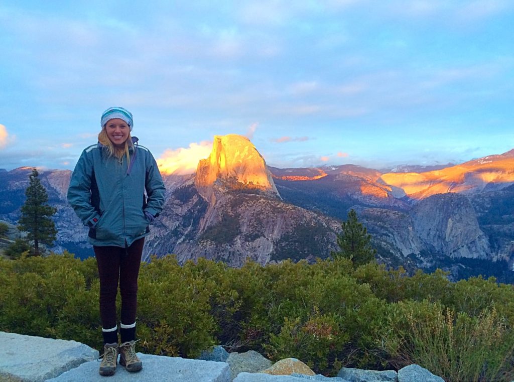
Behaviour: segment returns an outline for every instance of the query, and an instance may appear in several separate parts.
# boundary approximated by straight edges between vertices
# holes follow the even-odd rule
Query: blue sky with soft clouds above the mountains
[[[0,0],[0,168],[72,170],[111,106],[182,172],[225,134],[281,168],[501,154],[512,25],[510,0]]]

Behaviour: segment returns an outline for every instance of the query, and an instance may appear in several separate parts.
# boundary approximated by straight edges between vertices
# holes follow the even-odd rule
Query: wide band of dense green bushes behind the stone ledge
[[[194,357],[221,343],[295,357],[325,375],[418,363],[448,380],[512,380],[512,286],[446,275],[355,269],[347,259],[235,269],[153,258],[141,265],[137,332],[151,354]],[[0,259],[0,290],[0,331],[100,349],[94,258]]]

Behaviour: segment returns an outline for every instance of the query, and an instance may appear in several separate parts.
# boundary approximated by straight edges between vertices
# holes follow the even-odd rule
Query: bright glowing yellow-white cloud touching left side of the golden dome
[[[212,150],[212,142],[190,143],[189,148],[168,149],[157,159],[159,170],[167,175],[185,175],[196,171],[200,159],[207,158]]]

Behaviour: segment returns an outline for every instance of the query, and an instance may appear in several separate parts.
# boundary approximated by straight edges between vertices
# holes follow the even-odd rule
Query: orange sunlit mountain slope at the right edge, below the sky
[[[486,157],[487,158],[487,157]],[[388,173],[381,179],[403,189],[414,199],[447,192],[481,191],[488,183],[514,183],[514,157],[473,160],[443,170],[423,173]]]

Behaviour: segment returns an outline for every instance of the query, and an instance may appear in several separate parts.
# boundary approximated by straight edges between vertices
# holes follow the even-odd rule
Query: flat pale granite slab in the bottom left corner
[[[76,341],[0,332],[0,380],[43,382],[98,355]]]

